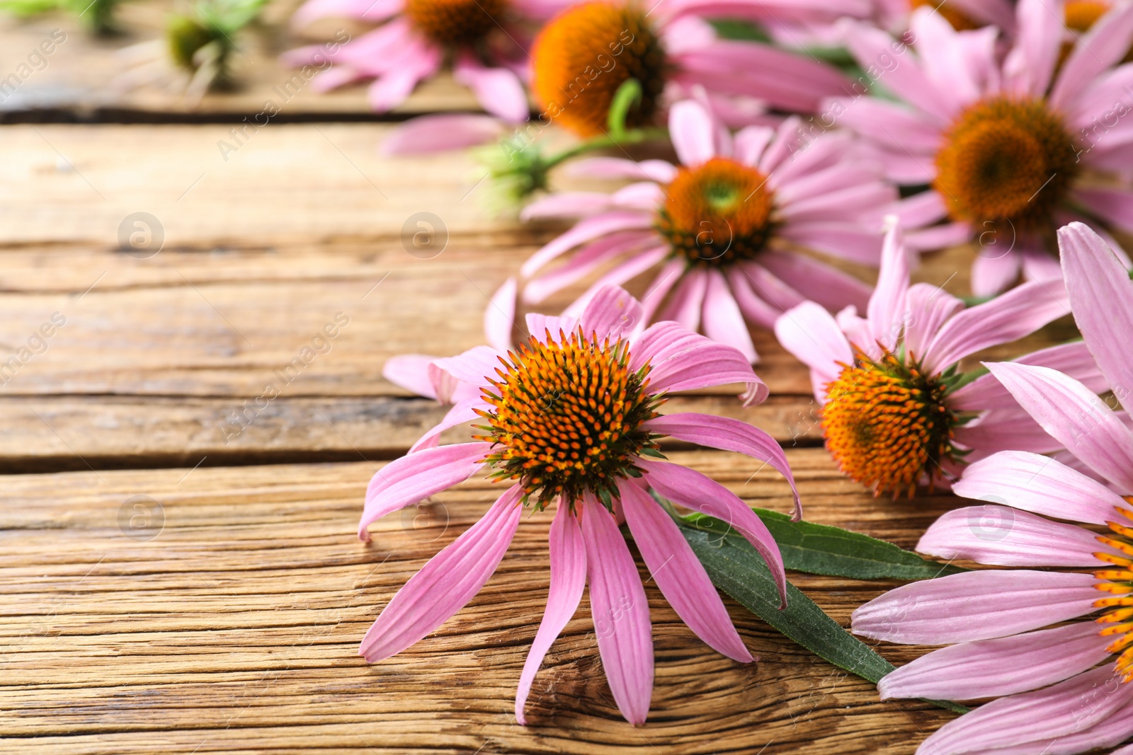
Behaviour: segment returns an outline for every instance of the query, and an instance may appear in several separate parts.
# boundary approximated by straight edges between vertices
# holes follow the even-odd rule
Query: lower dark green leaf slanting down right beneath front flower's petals
[[[787,606],[780,610],[778,590],[770,569],[743,538],[701,530],[682,518],[678,518],[678,524],[713,583],[784,636],[874,684],[895,668],[843,629],[790,582],[786,585]],[[968,712],[956,703],[927,702],[955,713]]]

